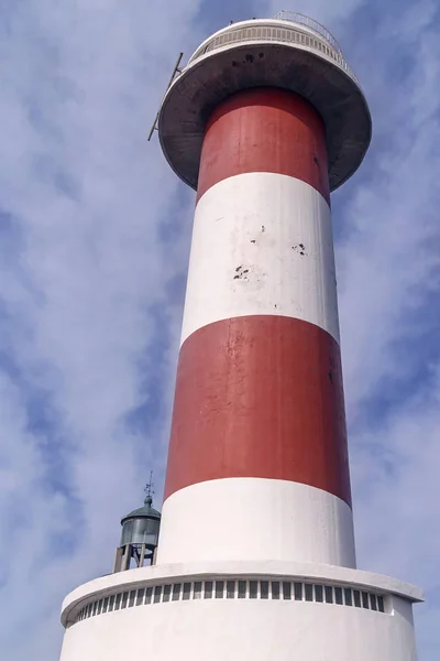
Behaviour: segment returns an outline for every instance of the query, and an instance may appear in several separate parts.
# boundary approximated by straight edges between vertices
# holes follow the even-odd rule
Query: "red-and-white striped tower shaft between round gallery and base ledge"
[[[157,562],[354,566],[323,124],[239,93],[201,153]]]

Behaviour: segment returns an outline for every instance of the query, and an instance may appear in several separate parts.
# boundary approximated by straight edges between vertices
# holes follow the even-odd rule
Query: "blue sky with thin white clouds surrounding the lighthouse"
[[[0,648],[56,661],[59,606],[161,498],[194,193],[146,142],[164,85],[250,0],[0,0]],[[332,198],[361,567],[421,585],[440,653],[440,6],[298,0],[374,139]],[[23,636],[23,631],[26,635]]]

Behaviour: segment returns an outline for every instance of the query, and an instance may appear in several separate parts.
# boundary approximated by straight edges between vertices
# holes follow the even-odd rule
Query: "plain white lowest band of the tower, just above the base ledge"
[[[321,489],[253,477],[199,483],[166,499],[158,564],[243,559],[354,567],[352,511]]]

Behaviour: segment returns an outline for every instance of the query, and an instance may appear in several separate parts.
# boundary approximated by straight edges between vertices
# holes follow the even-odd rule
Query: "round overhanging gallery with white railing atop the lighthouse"
[[[278,87],[307,99],[327,136],[330,189],[360,166],[372,133],[370,110],[332,34],[294,12],[232,23],[208,37],[168,88],[158,115],[162,149],[174,172],[197,188],[211,111],[251,87]]]

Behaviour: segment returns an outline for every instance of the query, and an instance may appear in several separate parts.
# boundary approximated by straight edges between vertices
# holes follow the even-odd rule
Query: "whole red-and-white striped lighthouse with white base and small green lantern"
[[[162,520],[124,517],[114,572],[66,597],[62,661],[416,661],[420,590],[355,563],[330,192],[369,148],[360,84],[287,12],[178,73],[158,136],[197,202]]]

